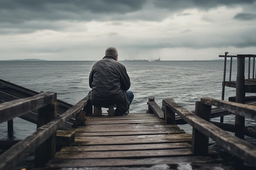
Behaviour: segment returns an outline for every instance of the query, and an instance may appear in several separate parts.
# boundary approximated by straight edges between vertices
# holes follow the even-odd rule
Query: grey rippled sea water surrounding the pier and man
[[[88,77],[95,62],[0,61],[0,79],[38,92],[56,92],[58,99],[76,104],[90,91]],[[162,106],[162,99],[172,98],[188,110],[194,110],[195,102],[202,97],[222,98],[224,60],[120,62],[126,66],[131,81],[130,90],[134,93],[130,113],[146,113],[149,96],[155,97],[159,106]],[[236,61],[232,65],[231,80],[236,80]],[[228,61],[226,80],[229,79],[229,69]],[[225,100],[235,95],[235,88],[225,87]],[[220,121],[219,118],[213,120]],[[20,118],[13,121],[11,137],[7,134],[7,122],[0,124],[0,140],[24,139],[36,130],[35,124]],[[224,123],[234,124],[234,115],[225,116]],[[256,121],[246,119],[245,124],[255,127]],[[188,124],[180,128],[192,133]],[[255,143],[254,138],[248,140]],[[213,149],[223,151],[214,141],[210,140],[210,143]]]

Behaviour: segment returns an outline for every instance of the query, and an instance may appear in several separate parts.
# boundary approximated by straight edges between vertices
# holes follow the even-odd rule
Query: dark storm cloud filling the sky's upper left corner
[[[145,2],[146,0],[0,0],[0,22],[93,20],[94,17],[100,19],[97,15],[103,13],[124,14],[137,11]],[[101,17],[104,18],[104,15]]]

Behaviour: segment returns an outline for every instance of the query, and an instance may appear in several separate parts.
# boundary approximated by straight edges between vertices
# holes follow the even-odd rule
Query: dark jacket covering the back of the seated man
[[[117,62],[112,55],[106,55],[92,67],[89,85],[92,88],[92,104],[106,106],[117,103],[122,96],[122,90],[129,89],[130,78],[123,64]]]

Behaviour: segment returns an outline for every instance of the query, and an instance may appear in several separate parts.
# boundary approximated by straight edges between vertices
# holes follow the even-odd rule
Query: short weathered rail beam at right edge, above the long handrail
[[[209,104],[209,105],[223,108],[223,109],[225,109],[231,113],[234,113],[236,115],[256,119],[256,107],[255,106],[234,103],[234,102],[228,102],[228,101],[212,99],[212,98],[202,98],[201,102],[204,104]]]

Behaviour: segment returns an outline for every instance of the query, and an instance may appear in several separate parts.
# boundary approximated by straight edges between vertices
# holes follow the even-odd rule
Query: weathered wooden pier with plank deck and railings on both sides
[[[256,166],[256,146],[209,122],[211,105],[252,119],[256,119],[255,107],[202,98],[196,102],[195,113],[192,113],[173,99],[164,99],[163,109],[153,99],[149,98],[148,113],[130,113],[119,117],[93,117],[88,97],[56,117],[56,93],[52,92],[2,103],[1,122],[37,109],[40,119],[36,132],[0,155],[0,170],[15,169],[16,164],[34,150],[33,170],[233,169],[223,165],[218,155],[209,152],[209,137],[240,159]],[[175,124],[175,113],[193,126],[192,135]],[[162,115],[164,118],[160,118]],[[57,130],[71,117],[76,120],[73,129],[67,133],[74,132],[74,142],[72,135],[67,140],[70,143],[60,142]],[[60,143],[61,148],[58,146]],[[60,150],[56,152],[55,147]]]

